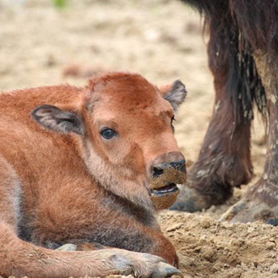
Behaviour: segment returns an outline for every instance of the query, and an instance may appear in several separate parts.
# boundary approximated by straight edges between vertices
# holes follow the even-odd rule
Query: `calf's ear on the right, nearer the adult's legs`
[[[162,96],[168,100],[176,111],[179,105],[185,100],[185,85],[181,80],[176,80],[171,84],[167,84],[158,88]]]

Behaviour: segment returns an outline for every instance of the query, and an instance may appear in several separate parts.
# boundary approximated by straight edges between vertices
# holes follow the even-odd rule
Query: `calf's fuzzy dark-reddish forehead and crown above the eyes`
[[[98,83],[88,97],[92,112],[98,115],[135,116],[150,113],[173,114],[171,104],[147,80],[139,78],[108,80]]]

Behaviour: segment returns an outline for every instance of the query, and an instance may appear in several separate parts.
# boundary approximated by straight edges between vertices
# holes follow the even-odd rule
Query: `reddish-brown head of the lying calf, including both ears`
[[[159,89],[138,74],[107,73],[67,105],[35,108],[44,127],[69,133],[94,181],[146,209],[170,207],[185,183],[185,158],[174,138],[181,81]]]

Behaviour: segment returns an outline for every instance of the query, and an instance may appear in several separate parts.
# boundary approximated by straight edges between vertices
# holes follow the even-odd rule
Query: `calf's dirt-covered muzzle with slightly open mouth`
[[[185,157],[169,152],[157,157],[150,166],[151,198],[158,209],[170,207],[179,194],[177,184],[186,182]]]

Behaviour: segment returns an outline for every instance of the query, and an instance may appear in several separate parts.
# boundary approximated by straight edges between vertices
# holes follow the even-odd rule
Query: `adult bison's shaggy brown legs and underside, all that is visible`
[[[267,220],[263,214],[278,217],[278,1],[183,1],[205,16],[216,95],[198,160],[174,208],[195,211],[223,203],[231,196],[232,186],[250,181],[255,102],[269,122],[268,155],[262,180],[246,193],[244,205],[236,205],[240,212],[234,220]],[[251,212],[252,202],[261,203],[261,212]],[[242,215],[242,208],[248,217]]]

